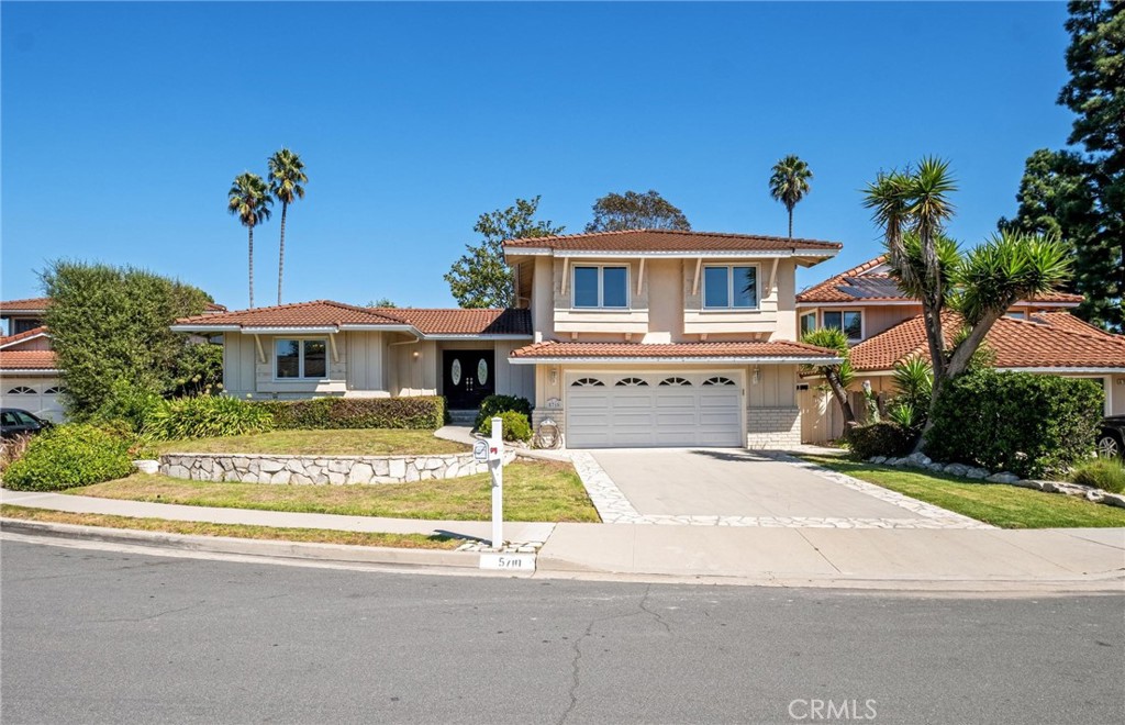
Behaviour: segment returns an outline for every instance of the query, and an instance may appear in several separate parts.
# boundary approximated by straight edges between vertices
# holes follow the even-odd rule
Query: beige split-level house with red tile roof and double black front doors
[[[178,320],[224,336],[233,395],[529,398],[570,447],[800,442],[795,270],[840,245],[637,230],[508,242],[518,309],[316,301]]]

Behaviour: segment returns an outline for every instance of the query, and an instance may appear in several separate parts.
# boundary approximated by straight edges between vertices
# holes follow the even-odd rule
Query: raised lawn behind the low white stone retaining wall
[[[467,445],[444,441],[433,431],[349,428],[273,431],[226,438],[191,438],[154,444],[156,453],[278,453],[289,455],[412,455],[465,453]]]

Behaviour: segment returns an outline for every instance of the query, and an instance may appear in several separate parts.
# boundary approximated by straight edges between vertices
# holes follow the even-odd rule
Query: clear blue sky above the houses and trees
[[[951,161],[952,234],[1015,212],[1024,160],[1071,115],[1063,3],[24,3],[0,6],[4,299],[48,260],[134,264],[246,305],[231,180],[307,164],[285,301],[453,306],[478,215],[542,196],[580,232],[594,199],[656,189],[702,230],[784,235],[767,192],[814,173],[798,236],[876,254],[860,190]],[[255,230],[276,300],[278,220]]]

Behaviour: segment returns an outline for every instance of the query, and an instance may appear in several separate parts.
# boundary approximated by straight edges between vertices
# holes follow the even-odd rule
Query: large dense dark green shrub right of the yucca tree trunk
[[[976,370],[942,390],[926,453],[1020,478],[1058,475],[1092,453],[1102,395],[1089,380]]]

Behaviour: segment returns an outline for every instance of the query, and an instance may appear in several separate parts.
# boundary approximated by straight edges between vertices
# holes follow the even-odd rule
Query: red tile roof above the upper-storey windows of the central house
[[[790,239],[750,234],[681,232],[675,229],[629,229],[595,232],[526,239],[508,239],[504,254],[516,256],[601,256],[601,257],[716,257],[776,256],[801,257],[810,264],[836,256],[843,247],[837,242]]]

